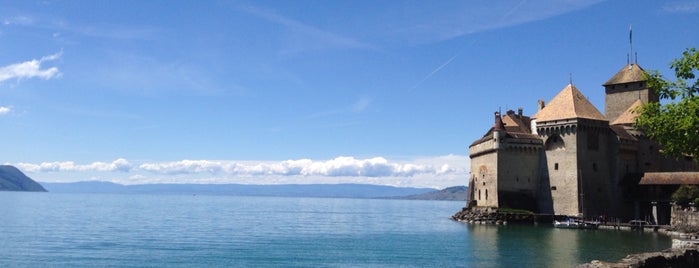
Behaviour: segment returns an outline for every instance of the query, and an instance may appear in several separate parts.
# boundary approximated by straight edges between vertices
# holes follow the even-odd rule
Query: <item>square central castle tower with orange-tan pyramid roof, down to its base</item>
[[[551,207],[542,207],[542,212],[569,216],[607,213],[609,121],[572,84],[532,118],[544,140],[541,179],[550,187],[545,191],[550,193]]]

